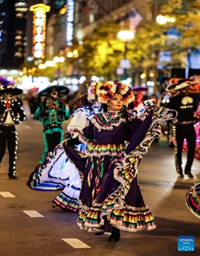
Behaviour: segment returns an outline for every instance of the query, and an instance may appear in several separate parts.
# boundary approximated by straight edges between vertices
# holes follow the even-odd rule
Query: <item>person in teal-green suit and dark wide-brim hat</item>
[[[66,109],[66,104],[58,99],[66,97],[69,93],[70,90],[66,86],[47,86],[38,93],[39,96],[46,97],[34,113],[34,119],[42,122],[44,126],[44,151],[40,162],[45,161],[45,154],[48,151],[62,142],[62,123],[70,118],[70,113]]]

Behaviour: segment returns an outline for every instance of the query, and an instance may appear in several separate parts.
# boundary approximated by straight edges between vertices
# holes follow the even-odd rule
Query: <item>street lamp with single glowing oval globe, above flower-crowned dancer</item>
[[[126,53],[127,53],[127,42],[132,40],[134,38],[134,32],[130,30],[120,30],[118,32],[118,38],[124,42],[124,59],[121,64],[121,67],[124,69],[124,76],[127,78],[127,72],[126,69],[130,68],[130,61],[126,59]]]

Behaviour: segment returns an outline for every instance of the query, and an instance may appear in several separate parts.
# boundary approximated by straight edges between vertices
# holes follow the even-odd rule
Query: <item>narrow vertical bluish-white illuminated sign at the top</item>
[[[67,1],[66,13],[66,45],[72,46],[74,37],[74,0]]]

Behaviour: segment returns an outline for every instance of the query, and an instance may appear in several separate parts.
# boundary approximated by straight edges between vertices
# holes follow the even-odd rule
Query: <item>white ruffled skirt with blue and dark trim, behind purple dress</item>
[[[83,151],[85,146],[78,145]],[[35,167],[30,174],[27,186],[31,190],[62,190],[53,200],[53,207],[63,210],[78,210],[78,198],[82,187],[82,177],[76,166],[68,158],[61,144],[46,154],[46,161]]]

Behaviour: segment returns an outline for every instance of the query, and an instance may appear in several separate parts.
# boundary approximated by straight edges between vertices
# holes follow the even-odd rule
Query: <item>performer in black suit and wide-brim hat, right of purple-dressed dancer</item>
[[[194,152],[196,145],[196,133],[194,130],[194,112],[198,108],[198,101],[194,94],[190,94],[189,86],[196,82],[187,82],[185,79],[179,79],[178,82],[166,87],[166,91],[174,91],[170,97],[170,101],[164,106],[178,112],[178,122],[173,125],[174,137],[174,159],[176,171],[179,178],[183,178],[182,171],[182,145],[184,139],[187,142],[187,161],[185,166],[185,174],[189,178],[193,178],[191,174],[191,167],[194,161]]]

